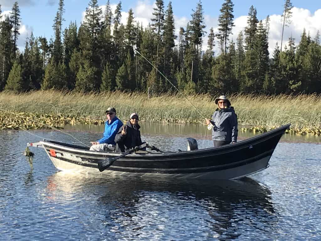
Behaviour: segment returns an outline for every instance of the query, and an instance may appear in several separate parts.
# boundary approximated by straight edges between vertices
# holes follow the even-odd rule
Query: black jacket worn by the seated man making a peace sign
[[[116,134],[115,152],[126,152],[129,151],[131,148],[134,148],[142,144],[142,139],[139,131],[140,126],[138,124],[135,127],[133,127],[130,121],[127,121],[125,124],[125,128],[127,132],[125,136],[121,134],[123,127],[120,127],[118,133]]]

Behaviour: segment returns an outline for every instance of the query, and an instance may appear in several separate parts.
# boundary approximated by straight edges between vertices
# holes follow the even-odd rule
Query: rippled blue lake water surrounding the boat
[[[269,168],[237,181],[67,173],[42,148],[33,168],[22,156],[27,142],[89,144],[102,130],[0,131],[1,240],[320,240],[319,137],[285,135]],[[199,125],[142,123],[142,134],[160,149],[186,149],[187,136],[212,146]]]

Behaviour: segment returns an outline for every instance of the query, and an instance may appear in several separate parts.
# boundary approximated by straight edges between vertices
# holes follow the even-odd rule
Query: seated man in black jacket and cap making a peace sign
[[[143,142],[139,129],[138,114],[132,113],[129,117],[129,121],[126,122],[126,125],[120,127],[118,130],[115,137],[115,152],[126,152],[131,148],[141,145]]]

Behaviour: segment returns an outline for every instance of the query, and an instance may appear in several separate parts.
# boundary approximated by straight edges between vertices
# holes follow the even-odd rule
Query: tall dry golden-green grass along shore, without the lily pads
[[[216,109],[215,97],[209,94],[187,96],[164,94],[148,98],[144,93],[78,93],[64,91],[34,91],[23,94],[0,93],[0,108],[11,112],[62,113],[79,117],[105,118],[108,106],[114,106],[121,120],[137,112],[142,121],[170,123],[203,123]],[[230,102],[239,123],[253,126],[281,126],[291,123],[294,128],[321,126],[321,96],[261,96],[232,94]],[[197,108],[199,112],[194,108]]]

